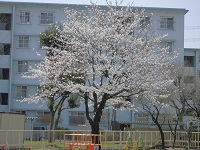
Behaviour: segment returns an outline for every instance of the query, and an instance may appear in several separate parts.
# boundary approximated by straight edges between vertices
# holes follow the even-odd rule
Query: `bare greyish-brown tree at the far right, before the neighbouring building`
[[[188,66],[188,62],[185,62]],[[179,124],[181,130],[187,131],[188,147],[190,147],[191,131],[193,130],[193,123],[188,122],[184,125],[184,118],[193,116],[198,120],[200,117],[200,103],[199,81],[195,80],[195,74],[187,70],[182,65],[176,65],[173,72],[174,85],[170,87],[169,105],[176,110],[176,122]],[[171,129],[171,128],[170,128]],[[177,129],[177,127],[175,128]],[[171,130],[172,131],[172,130]],[[173,132],[174,138],[176,131]],[[175,141],[174,141],[175,142]]]

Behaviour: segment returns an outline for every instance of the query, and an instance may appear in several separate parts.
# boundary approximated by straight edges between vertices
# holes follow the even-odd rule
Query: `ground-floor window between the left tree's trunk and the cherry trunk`
[[[85,124],[84,112],[71,112],[69,116],[69,124],[73,126]]]

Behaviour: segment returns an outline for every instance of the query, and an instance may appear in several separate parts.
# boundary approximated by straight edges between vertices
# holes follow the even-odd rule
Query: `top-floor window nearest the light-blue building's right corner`
[[[174,18],[161,17],[160,18],[160,28],[161,29],[173,29],[174,28]]]

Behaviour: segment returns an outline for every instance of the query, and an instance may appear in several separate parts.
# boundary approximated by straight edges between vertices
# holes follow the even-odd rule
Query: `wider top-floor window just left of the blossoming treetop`
[[[54,13],[53,12],[42,12],[40,16],[41,24],[52,24],[54,23]]]

